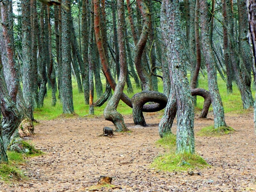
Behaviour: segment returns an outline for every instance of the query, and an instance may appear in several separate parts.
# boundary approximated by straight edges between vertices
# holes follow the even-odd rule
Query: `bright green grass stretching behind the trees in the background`
[[[188,79],[190,79],[188,74]],[[141,91],[140,88],[136,88],[135,83],[133,79],[131,78],[133,91],[134,93],[128,94],[127,93],[127,87],[124,88],[124,93],[127,94],[130,98],[135,94]],[[102,81],[103,83],[103,89],[105,89],[105,81]],[[78,117],[78,116],[85,116],[89,114],[89,105],[84,104],[84,94],[78,93],[78,88],[76,84],[76,80],[72,79],[72,85],[73,85],[73,101],[74,101],[74,109],[77,116],[72,115],[71,117],[68,115],[61,115],[62,114],[62,104],[59,99],[57,99],[57,103],[55,107],[52,107],[52,98],[51,98],[51,90],[47,91],[47,97],[44,99],[44,107],[40,109],[35,109],[34,112],[34,118],[36,120],[50,120],[50,119],[56,119],[56,118],[72,118],[72,117]],[[204,88],[208,90],[208,82],[207,82],[207,76],[204,78],[202,75],[199,78],[199,88]],[[244,110],[243,104],[241,101],[241,95],[240,92],[236,86],[236,84],[233,84],[233,93],[227,94],[226,90],[226,82],[224,82],[220,76],[218,75],[218,87],[220,90],[220,95],[222,98],[222,103],[224,107],[225,113],[247,113],[252,112],[252,110]],[[158,89],[160,92],[163,92],[163,83],[162,80],[158,79]],[[96,89],[94,88],[94,101],[97,100],[96,96]],[[112,90],[113,92],[113,90]],[[255,91],[252,90],[252,95],[255,95]],[[58,96],[58,93],[56,94]],[[197,110],[202,110],[204,104],[204,98],[197,96]],[[95,107],[94,112],[95,116],[101,116],[103,115],[104,108],[106,107],[106,103],[103,104],[101,107]],[[119,102],[117,111],[119,111],[122,115],[129,115],[132,114],[132,109],[128,107],[126,104],[124,104],[123,101]],[[210,107],[210,111],[212,111],[212,106]],[[163,114],[164,110],[160,111],[159,117],[161,118],[161,114]],[[89,116],[88,116],[89,117]]]

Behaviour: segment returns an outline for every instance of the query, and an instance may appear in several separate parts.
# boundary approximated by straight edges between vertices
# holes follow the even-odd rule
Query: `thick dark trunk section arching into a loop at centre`
[[[148,102],[158,103],[154,105],[157,105],[157,111],[160,111],[166,106],[167,97],[163,93],[159,93],[157,91],[142,91],[132,96],[132,115],[135,125],[147,126],[143,117],[142,109],[144,104]],[[154,110],[156,108],[154,108]]]

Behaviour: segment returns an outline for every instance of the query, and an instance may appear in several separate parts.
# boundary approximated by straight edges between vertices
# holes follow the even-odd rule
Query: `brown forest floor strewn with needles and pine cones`
[[[30,157],[20,169],[25,181],[0,183],[1,192],[88,191],[100,175],[113,177],[114,188],[100,191],[256,191],[256,136],[252,111],[227,114],[226,122],[236,132],[219,137],[198,136],[211,119],[195,119],[196,152],[211,166],[188,172],[163,172],[150,167],[155,157],[168,152],[157,147],[158,113],[145,116],[148,127],[134,126],[132,116],[125,122],[132,132],[100,136],[105,119],[76,118],[41,120],[30,138],[45,154]],[[173,123],[173,132],[176,121]]]

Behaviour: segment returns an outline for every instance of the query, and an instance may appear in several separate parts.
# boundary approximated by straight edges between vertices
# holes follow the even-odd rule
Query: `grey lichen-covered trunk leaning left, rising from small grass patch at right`
[[[205,64],[208,73],[208,88],[212,100],[212,108],[214,114],[214,127],[227,126],[224,117],[224,108],[222,105],[220,92],[217,84],[217,72],[214,65],[213,52],[209,38],[209,23],[207,21],[208,5],[207,0],[200,0],[201,10],[201,33],[202,48],[204,53]]]

